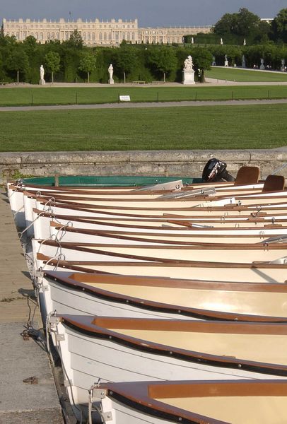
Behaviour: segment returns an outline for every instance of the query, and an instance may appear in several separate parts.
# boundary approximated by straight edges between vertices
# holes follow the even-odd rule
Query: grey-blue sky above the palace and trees
[[[0,0],[3,18],[100,20],[138,18],[139,27],[213,25],[224,13],[245,7],[260,18],[274,18],[286,0]]]

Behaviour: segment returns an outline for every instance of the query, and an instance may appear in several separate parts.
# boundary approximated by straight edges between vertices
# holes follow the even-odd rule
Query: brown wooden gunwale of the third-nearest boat
[[[80,276],[80,275],[79,275]],[[106,274],[100,276],[100,274],[88,274],[86,276],[90,277],[90,280],[95,278],[102,278],[105,280]],[[133,307],[137,307],[143,310],[150,310],[155,312],[163,313],[172,313],[175,315],[184,315],[187,317],[194,317],[197,319],[210,319],[210,320],[219,320],[219,321],[247,321],[247,322],[287,322],[287,317],[274,317],[274,316],[264,316],[264,315],[252,315],[252,314],[243,314],[235,312],[221,312],[213,310],[204,310],[200,308],[187,307],[182,305],[172,305],[163,302],[157,302],[149,299],[136,298],[135,296],[125,295],[121,293],[115,293],[108,290],[108,284],[114,285],[145,285],[145,287],[167,287],[167,288],[193,288],[193,289],[202,289],[202,290],[226,290],[226,291],[252,291],[261,293],[287,293],[287,286],[283,284],[259,284],[259,283],[211,283],[211,282],[202,282],[202,281],[191,281],[191,280],[175,280],[170,281],[166,278],[158,278],[158,282],[155,281],[156,278],[137,278],[141,281],[134,281],[136,278],[124,278],[124,276],[109,276],[108,278],[116,279],[118,281],[109,281],[107,283],[107,289],[97,288],[85,284],[83,281],[76,281],[73,278],[73,274],[70,276],[59,276],[59,271],[45,271],[45,278],[50,278],[53,283],[69,288],[71,290],[88,293],[95,298],[100,298],[101,300],[108,300],[110,302],[129,304]],[[130,277],[130,276],[129,276]],[[88,279],[88,278],[87,278]],[[127,281],[128,280],[128,281]],[[49,281],[48,281],[49,282]],[[88,283],[88,281],[86,281]],[[94,281],[90,281],[93,283]],[[96,283],[96,282],[95,282]],[[99,281],[99,283],[106,283],[105,281]],[[258,287],[258,285],[260,287]],[[271,287],[269,287],[271,285]],[[251,287],[250,287],[251,286]],[[262,287],[263,286],[263,287]],[[267,287],[268,286],[268,287]],[[275,286],[275,287],[274,287]],[[282,290],[283,289],[283,290]]]

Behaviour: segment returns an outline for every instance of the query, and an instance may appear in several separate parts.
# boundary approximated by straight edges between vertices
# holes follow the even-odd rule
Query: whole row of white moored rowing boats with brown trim
[[[8,197],[79,423],[286,423],[283,177]]]

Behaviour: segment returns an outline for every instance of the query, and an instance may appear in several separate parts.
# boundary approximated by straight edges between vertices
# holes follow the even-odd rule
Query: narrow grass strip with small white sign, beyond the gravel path
[[[119,95],[132,102],[287,98],[287,86],[0,88],[0,106],[112,103]]]

